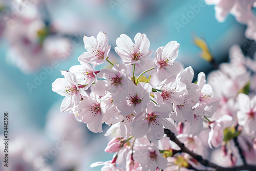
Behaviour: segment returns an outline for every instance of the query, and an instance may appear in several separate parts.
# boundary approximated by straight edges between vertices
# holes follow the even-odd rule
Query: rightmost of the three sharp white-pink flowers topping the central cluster
[[[170,41],[165,47],[160,47],[156,51],[155,68],[160,81],[177,75],[181,71],[179,63],[174,62],[178,56],[180,44],[177,41]]]

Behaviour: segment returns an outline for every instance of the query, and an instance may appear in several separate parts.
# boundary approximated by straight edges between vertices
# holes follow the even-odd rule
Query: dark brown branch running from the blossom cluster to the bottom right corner
[[[234,170],[250,170],[250,171],[254,171],[256,170],[256,166],[253,165],[243,165],[243,166],[235,166],[235,167],[221,167],[215,163],[212,163],[208,160],[205,160],[202,158],[202,156],[190,151],[185,145],[184,143],[182,143],[173,132],[171,132],[168,129],[164,129],[164,133],[167,135],[167,137],[170,138],[170,140],[172,140],[173,142],[175,142],[180,148],[181,151],[183,153],[187,153],[189,154],[191,157],[193,157],[194,159],[196,159],[199,163],[201,163],[202,165],[206,166],[206,167],[211,167],[211,168],[215,168],[216,171],[234,171]]]

